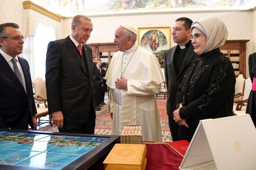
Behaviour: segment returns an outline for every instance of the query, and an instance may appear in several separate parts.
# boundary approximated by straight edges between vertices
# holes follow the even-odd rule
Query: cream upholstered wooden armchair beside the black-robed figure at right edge
[[[249,77],[245,80],[244,95],[242,100],[234,101],[234,103],[236,103],[236,109],[235,110],[233,109],[234,115],[241,115],[246,113],[246,105],[247,105],[251,90],[252,90],[252,81]]]

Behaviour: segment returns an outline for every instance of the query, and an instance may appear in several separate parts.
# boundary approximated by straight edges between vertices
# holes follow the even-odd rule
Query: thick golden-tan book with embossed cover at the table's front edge
[[[147,148],[143,144],[116,144],[103,164],[105,170],[146,170]]]

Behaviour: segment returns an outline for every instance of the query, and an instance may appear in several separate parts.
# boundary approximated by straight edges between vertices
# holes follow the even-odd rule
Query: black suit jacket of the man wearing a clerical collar
[[[192,44],[188,47],[188,52],[184,58],[182,67],[180,69],[179,75],[176,74],[174,66],[174,54],[176,47],[166,50],[164,54],[164,75],[166,81],[166,88],[168,90],[168,98],[166,103],[166,111],[170,117],[173,117],[173,111],[176,106],[176,94],[177,89],[180,86],[182,79],[187,72],[190,65],[198,58],[198,55],[193,51],[194,47]]]

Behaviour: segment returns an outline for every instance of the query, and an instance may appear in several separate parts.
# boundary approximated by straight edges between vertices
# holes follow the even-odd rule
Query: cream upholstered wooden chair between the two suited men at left
[[[38,77],[36,80],[33,82],[34,90],[35,90],[35,96],[34,99],[36,100],[37,103],[37,114],[36,119],[38,119],[38,125],[42,125],[43,123],[50,123],[52,126],[52,115],[49,115],[49,122],[43,122],[40,123],[40,117],[47,116],[49,114],[48,112],[48,106],[46,104],[47,102],[47,97],[46,97],[46,85],[45,81],[41,78]],[[40,107],[40,104],[44,104],[44,107]]]

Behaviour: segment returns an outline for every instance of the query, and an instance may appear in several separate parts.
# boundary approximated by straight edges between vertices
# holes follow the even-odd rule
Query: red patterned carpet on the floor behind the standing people
[[[171,142],[172,137],[168,126],[168,116],[166,114],[166,100],[157,99],[157,106],[159,110],[159,117],[162,129],[162,138],[164,142]],[[101,111],[96,111],[96,126],[95,134],[97,135],[111,135],[112,120],[108,112],[108,105],[102,107]],[[38,129],[39,131],[58,132],[58,128],[54,125],[51,127],[47,125]]]

